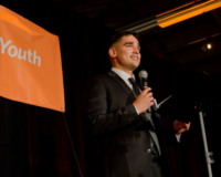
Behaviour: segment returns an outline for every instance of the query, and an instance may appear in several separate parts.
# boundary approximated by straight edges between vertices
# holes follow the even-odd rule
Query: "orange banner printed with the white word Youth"
[[[0,95],[65,111],[59,37],[2,6]]]

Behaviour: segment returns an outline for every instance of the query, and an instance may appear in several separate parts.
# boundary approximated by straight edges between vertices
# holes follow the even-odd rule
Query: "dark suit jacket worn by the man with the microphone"
[[[149,177],[151,149],[149,122],[137,115],[136,96],[113,71],[90,80],[83,98],[86,135],[94,140],[86,145],[91,153],[88,176]],[[159,117],[152,118],[165,154],[165,139],[177,142],[172,127],[162,129]],[[93,152],[93,153],[92,153]],[[93,158],[94,157],[94,158]],[[167,166],[167,165],[166,165]]]

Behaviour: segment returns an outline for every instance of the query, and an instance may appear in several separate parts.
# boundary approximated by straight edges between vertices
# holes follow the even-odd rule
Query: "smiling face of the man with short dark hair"
[[[140,63],[140,45],[134,35],[125,35],[116,43],[116,62],[122,70],[134,71]]]

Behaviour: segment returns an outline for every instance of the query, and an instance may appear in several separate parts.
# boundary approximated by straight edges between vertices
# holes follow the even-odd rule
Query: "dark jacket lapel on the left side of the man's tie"
[[[115,72],[113,71],[109,71],[107,73],[115,82],[117,82],[120,87],[124,90],[124,92],[127,94],[127,96],[131,100],[131,102],[135,101],[136,96],[134,95],[131,88],[125,83],[125,81],[119,76],[117,75]]]

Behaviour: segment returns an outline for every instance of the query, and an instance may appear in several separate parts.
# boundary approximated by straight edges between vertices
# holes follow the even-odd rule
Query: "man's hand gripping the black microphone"
[[[152,93],[149,91],[151,91],[150,87],[145,88],[133,103],[139,114],[146,112],[154,105]]]

